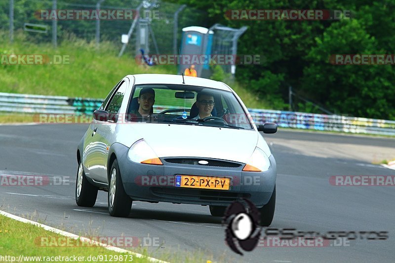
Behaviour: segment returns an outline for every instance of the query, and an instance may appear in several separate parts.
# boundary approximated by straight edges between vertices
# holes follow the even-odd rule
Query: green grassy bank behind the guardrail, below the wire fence
[[[0,64],[0,92],[103,99],[127,74],[177,73],[174,65],[146,68],[136,64],[130,55],[118,58],[119,49],[120,44],[102,42],[96,48],[95,42],[87,43],[72,37],[54,49],[51,43],[35,44],[28,41],[22,32],[16,33],[14,43],[10,44],[8,33],[0,32],[0,55],[44,54],[66,55],[70,58],[70,64],[65,65]],[[247,107],[268,107],[239,84],[230,86]]]

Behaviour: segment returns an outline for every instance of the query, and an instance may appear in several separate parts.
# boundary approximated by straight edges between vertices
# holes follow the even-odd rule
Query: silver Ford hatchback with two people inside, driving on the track
[[[247,198],[272,223],[276,161],[237,94],[225,83],[166,74],[127,75],[112,89],[77,149],[76,202],[108,192],[111,216],[132,201],[208,205],[222,216]]]

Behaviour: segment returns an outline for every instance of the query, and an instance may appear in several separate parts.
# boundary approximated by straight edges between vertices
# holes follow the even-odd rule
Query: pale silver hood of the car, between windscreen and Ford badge
[[[133,133],[152,147],[158,157],[202,157],[246,163],[258,142],[255,130],[141,124]],[[130,134],[130,133],[129,133]],[[135,139],[136,136],[133,136]],[[129,142],[129,147],[136,141]]]

